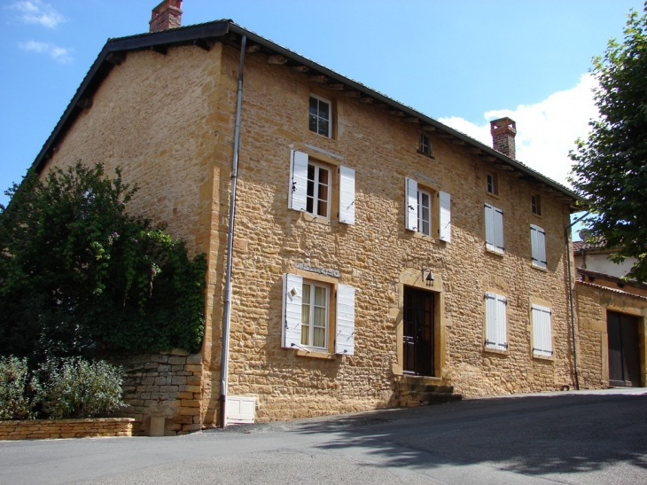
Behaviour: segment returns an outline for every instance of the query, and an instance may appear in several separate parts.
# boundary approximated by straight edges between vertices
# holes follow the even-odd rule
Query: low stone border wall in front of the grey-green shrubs
[[[131,436],[134,421],[132,418],[0,421],[0,440]]]

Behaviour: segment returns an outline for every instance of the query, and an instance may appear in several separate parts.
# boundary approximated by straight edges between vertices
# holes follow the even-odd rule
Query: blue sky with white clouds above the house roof
[[[157,0],[0,0],[0,188],[19,182],[109,37],[148,30]],[[229,18],[565,184],[596,115],[591,58],[640,0],[185,0],[183,25]],[[0,195],[0,203],[7,198]]]

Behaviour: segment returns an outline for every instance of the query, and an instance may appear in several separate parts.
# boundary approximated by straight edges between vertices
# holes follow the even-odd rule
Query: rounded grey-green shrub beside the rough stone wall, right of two
[[[91,418],[124,405],[121,368],[104,361],[69,357],[43,364],[41,372],[48,381],[40,397],[42,411],[51,419]]]

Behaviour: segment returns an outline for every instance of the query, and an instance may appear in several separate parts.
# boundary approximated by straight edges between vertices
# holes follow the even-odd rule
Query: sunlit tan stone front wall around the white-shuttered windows
[[[238,51],[224,48],[222,86],[233,96]],[[386,110],[324,90],[307,74],[246,58],[238,172],[230,346],[230,394],[258,396],[257,418],[294,419],[386,406],[401,374],[401,293],[437,276],[442,301],[437,377],[464,395],[494,395],[573,384],[568,333],[565,203],[461,145],[430,134],[433,158],[417,153],[420,132]],[[310,93],[331,100],[334,136],[308,130]],[[355,169],[355,225],[289,210],[290,150],[331,168]],[[486,172],[499,195],[486,192]],[[404,229],[404,180],[415,177],[452,197],[452,241]],[[332,199],[336,198],[333,182]],[[530,209],[542,196],[542,217]],[[484,203],[503,209],[505,254],[486,251]],[[531,223],[546,231],[548,269],[531,264]],[[326,279],[297,263],[339,271]],[[355,287],[355,356],[318,356],[281,348],[282,275],[301,274]],[[510,348],[484,350],[484,294],[508,298]],[[554,357],[532,356],[531,296],[552,309]],[[401,334],[401,333],[400,333]],[[324,357],[324,358],[323,358]],[[213,376],[212,381],[217,379]],[[207,410],[217,402],[207,399]],[[212,411],[214,412],[214,411]],[[208,421],[208,418],[207,418]]]

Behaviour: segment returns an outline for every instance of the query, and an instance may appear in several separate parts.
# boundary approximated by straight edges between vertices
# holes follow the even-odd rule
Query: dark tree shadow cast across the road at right
[[[488,463],[526,474],[647,469],[647,395],[469,400],[300,424],[338,437],[322,449],[366,448],[379,463],[429,469]]]

